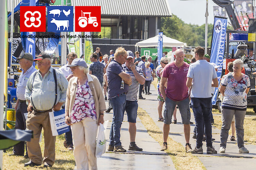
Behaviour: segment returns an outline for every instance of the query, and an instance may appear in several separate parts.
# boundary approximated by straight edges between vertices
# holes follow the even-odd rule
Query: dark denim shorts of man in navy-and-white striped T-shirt
[[[138,101],[126,100],[125,111],[127,113],[128,122],[136,123]],[[124,112],[125,112],[124,111]]]

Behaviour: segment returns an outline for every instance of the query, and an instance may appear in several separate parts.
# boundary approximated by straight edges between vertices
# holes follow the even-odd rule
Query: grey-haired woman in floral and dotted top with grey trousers
[[[244,117],[247,108],[247,93],[250,90],[249,77],[241,73],[243,69],[243,61],[237,59],[233,61],[233,72],[228,73],[222,78],[221,92],[222,102],[222,128],[221,128],[221,148],[220,153],[225,153],[228,131],[235,117],[235,126],[237,132],[237,144],[240,153],[249,153],[244,147]]]

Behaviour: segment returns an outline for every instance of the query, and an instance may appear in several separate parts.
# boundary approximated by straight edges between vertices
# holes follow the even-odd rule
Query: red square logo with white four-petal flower
[[[20,6],[20,32],[45,32],[45,6]]]

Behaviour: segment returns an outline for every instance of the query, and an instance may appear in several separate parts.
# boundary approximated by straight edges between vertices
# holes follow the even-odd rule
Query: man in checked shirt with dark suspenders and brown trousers
[[[34,61],[38,62],[38,71],[28,79],[25,98],[28,102],[27,129],[33,131],[34,138],[27,142],[30,161],[25,166],[39,166],[42,164],[42,153],[39,138],[44,129],[44,167],[51,167],[55,161],[55,140],[52,135],[49,112],[59,111],[66,101],[68,81],[56,70],[57,96],[55,94],[54,69],[51,67],[52,58],[43,52]],[[57,97],[57,100],[55,100]]]

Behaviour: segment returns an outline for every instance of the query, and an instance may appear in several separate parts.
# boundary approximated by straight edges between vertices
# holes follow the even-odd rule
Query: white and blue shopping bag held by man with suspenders
[[[65,123],[65,109],[49,112],[53,136],[69,132],[69,125]]]

